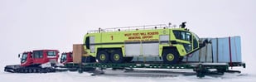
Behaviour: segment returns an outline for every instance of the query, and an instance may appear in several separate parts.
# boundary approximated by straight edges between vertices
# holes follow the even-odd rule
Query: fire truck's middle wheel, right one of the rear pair
[[[110,60],[113,63],[123,63],[123,59],[122,51],[114,51],[111,53]]]

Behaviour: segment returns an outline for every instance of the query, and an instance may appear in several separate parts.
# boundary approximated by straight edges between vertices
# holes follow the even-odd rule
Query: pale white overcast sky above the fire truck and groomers
[[[256,58],[256,0],[0,0],[0,46],[9,57],[1,59],[34,49],[72,51],[99,27],[168,22],[187,22],[200,37],[241,36],[243,60]]]

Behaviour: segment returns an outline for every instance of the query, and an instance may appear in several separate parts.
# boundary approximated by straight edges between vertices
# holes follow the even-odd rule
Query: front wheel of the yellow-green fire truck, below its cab
[[[164,50],[162,53],[162,60],[167,64],[176,64],[180,60],[180,55],[173,49]]]

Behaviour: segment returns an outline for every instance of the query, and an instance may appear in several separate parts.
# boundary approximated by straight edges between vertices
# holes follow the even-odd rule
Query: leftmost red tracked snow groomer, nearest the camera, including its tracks
[[[7,65],[4,70],[15,73],[55,72],[58,58],[58,50],[27,51],[22,53],[21,65]]]

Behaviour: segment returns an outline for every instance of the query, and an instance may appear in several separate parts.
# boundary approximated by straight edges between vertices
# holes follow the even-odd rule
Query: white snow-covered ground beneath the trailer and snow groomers
[[[192,70],[166,70],[166,73],[138,71],[124,73],[123,70],[104,70],[104,75],[92,75],[92,73],[87,72],[80,74],[77,71],[17,74],[4,72],[3,65],[1,64],[0,80],[8,82],[16,82],[17,80],[22,80],[22,82],[35,82],[35,80],[36,82],[254,82],[256,80],[254,71],[248,68],[239,67],[234,68],[234,70],[241,70],[242,73],[206,75],[200,79],[196,77],[196,74]]]

